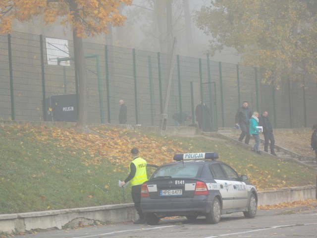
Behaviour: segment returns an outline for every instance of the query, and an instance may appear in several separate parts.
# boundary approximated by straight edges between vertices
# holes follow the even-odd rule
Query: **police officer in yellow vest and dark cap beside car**
[[[139,214],[139,220],[134,221],[134,224],[142,224],[145,223],[145,218],[141,210],[141,186],[142,183],[148,180],[147,177],[147,162],[139,157],[138,148],[133,148],[131,150],[132,162],[130,163],[130,174],[124,181],[122,182],[122,186],[131,181],[132,189],[131,196],[134,202],[134,208],[137,210]]]

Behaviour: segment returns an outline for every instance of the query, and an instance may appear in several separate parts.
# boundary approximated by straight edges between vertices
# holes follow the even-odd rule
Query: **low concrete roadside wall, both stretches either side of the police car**
[[[315,199],[316,186],[260,191],[258,206]],[[14,234],[37,229],[65,229],[97,223],[130,222],[137,218],[133,203],[43,212],[0,215],[0,232]]]

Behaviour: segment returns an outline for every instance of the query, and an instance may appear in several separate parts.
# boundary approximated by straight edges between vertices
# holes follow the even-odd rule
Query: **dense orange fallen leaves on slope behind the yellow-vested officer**
[[[2,127],[4,128],[3,125]],[[68,153],[81,156],[83,162],[88,164],[99,164],[107,160],[128,166],[133,147],[139,149],[140,156],[148,164],[155,165],[171,162],[174,154],[182,153],[178,146],[180,141],[175,140],[172,144],[164,138],[152,138],[140,132],[115,127],[95,127],[91,133],[80,132],[76,128],[31,127],[28,124],[19,126],[19,129],[23,132],[35,132],[36,137],[30,139],[44,144],[54,143]]]

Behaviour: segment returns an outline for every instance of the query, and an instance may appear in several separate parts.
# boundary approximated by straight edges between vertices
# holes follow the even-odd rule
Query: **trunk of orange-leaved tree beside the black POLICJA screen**
[[[76,1],[69,1],[70,11],[74,13],[74,19],[76,22],[80,22],[77,10]],[[74,62],[75,70],[78,75],[78,87],[79,87],[79,105],[78,105],[78,118],[77,127],[84,127],[87,123],[88,114],[88,82],[87,82],[87,69],[86,60],[83,51],[83,39],[77,36],[77,28],[73,29],[74,40]]]

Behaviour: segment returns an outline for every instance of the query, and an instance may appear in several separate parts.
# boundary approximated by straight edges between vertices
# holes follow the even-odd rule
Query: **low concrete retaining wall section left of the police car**
[[[0,232],[14,234],[36,229],[65,229],[97,223],[119,223],[132,221],[136,216],[133,203],[4,214],[0,215]]]

